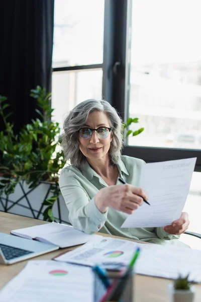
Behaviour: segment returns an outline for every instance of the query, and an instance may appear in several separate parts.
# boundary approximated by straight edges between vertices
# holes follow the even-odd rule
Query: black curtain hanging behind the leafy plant
[[[53,28],[54,0],[0,0],[0,95],[16,133],[37,116],[30,90],[51,91]]]

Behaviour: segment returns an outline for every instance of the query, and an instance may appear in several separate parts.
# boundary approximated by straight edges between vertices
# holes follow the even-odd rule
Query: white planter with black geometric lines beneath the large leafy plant
[[[9,199],[5,194],[0,196],[0,211],[43,220],[41,212],[47,206],[43,206],[41,210],[41,204],[45,198],[52,197],[51,192],[47,195],[49,187],[49,183],[40,183],[39,186],[31,190],[25,182],[21,182],[16,186],[15,192],[9,195]],[[53,215],[58,219],[58,222],[68,223],[68,214],[65,201],[60,194],[59,200],[54,203]]]

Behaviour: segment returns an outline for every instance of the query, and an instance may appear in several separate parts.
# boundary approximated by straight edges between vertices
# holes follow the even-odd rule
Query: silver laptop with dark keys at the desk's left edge
[[[13,264],[58,249],[52,244],[0,233],[0,264]]]

